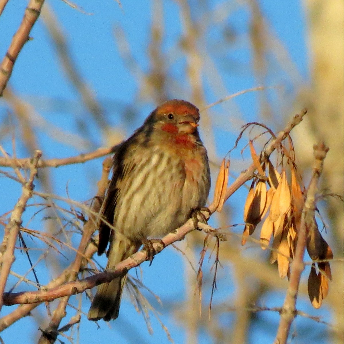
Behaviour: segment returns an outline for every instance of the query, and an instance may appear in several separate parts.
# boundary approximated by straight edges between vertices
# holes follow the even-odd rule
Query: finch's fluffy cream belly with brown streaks
[[[197,164],[196,164],[197,165]],[[169,155],[153,155],[147,167],[127,181],[114,216],[116,230],[132,240],[159,238],[180,227],[192,209],[204,206],[208,190],[202,169]]]

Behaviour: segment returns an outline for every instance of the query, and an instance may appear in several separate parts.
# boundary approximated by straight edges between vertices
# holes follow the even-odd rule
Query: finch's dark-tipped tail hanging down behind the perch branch
[[[108,250],[108,258],[106,270],[114,269],[114,267],[122,260],[130,257],[137,252],[140,243],[133,243],[125,237],[119,238],[120,234],[116,234],[113,238]],[[110,321],[116,319],[119,312],[119,304],[121,303],[121,295],[127,275],[116,277],[109,283],[100,284],[92,301],[90,310],[88,311],[89,320],[104,319]]]

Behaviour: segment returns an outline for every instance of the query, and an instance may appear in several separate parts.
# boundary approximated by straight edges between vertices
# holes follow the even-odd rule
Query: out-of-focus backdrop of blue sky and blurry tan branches
[[[2,55],[25,6],[24,1],[12,0],[1,14]],[[31,35],[33,40],[25,44],[0,100],[0,143],[10,155],[29,157],[39,148],[45,159],[65,158],[112,146],[128,137],[166,99],[186,99],[202,110],[247,90],[201,111],[201,137],[208,149],[212,180],[244,123],[262,122],[276,132],[306,107],[308,114],[292,132],[304,182],[307,185],[310,176],[312,146],[323,139],[330,151],[321,190],[343,194],[343,1],[45,1]],[[250,91],[256,86],[264,89]],[[250,137],[257,132],[253,130]],[[248,138],[246,134],[240,147],[231,152],[229,183],[250,164],[248,150],[240,152]],[[257,141],[261,144],[257,151],[265,141]],[[100,158],[41,169],[36,190],[86,202],[96,193],[101,162]],[[11,173],[5,168],[2,171]],[[2,174],[0,188],[2,226],[18,199],[20,185]],[[268,253],[259,245],[240,245],[246,195],[247,188],[242,187],[224,211],[211,219],[211,225],[226,228],[232,235],[220,246],[222,268],[210,319],[212,260],[204,268],[201,315],[195,297],[195,269],[204,234],[192,233],[179,242],[184,254],[168,249],[150,268],[147,264],[142,267],[144,283],[160,297],[163,307],[152,295],[145,295],[161,313],[160,319],[175,343],[273,341],[279,315],[260,312],[259,307],[280,307],[287,281],[279,279],[276,267],[268,262]],[[25,228],[65,243],[54,241],[62,255],[23,233],[41,284],[70,264],[74,257],[70,247],[77,247],[82,226],[76,218],[77,205],[57,199],[48,203],[34,197],[23,223]],[[337,260],[331,266],[333,280],[323,308],[312,309],[306,277],[300,286],[298,308],[323,316],[330,325],[298,317],[292,343],[342,343],[343,339],[343,204],[326,197],[318,207],[327,225],[323,236]],[[230,227],[233,224],[239,225]],[[25,276],[24,282],[14,291],[34,290],[28,284],[34,280],[32,271],[25,275],[30,268],[28,260],[19,249],[16,254],[6,290],[20,276]],[[96,260],[105,265],[104,257]],[[135,272],[132,275],[136,276]],[[76,295],[69,302],[61,325],[79,314],[78,309],[87,312],[90,305],[85,295]],[[40,336],[37,328],[46,327],[47,314],[56,304],[52,302],[48,312],[42,304],[31,316],[4,330],[4,343],[13,343],[18,333],[23,343],[36,342]],[[15,309],[17,306],[3,308],[2,316]],[[168,341],[165,327],[153,315],[154,335],[149,336],[142,316],[129,302],[123,302],[119,318],[111,323],[111,329],[99,323],[101,329],[97,330],[82,316],[81,323],[59,338],[72,343],[94,343],[100,338],[109,343]]]

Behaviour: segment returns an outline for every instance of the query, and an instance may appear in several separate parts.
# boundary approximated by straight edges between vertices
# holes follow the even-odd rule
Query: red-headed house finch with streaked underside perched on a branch
[[[113,175],[101,208],[98,255],[107,243],[106,269],[183,225],[206,203],[208,156],[199,138],[199,112],[185,100],[158,106],[113,157]],[[111,229],[107,223],[111,224]],[[116,319],[126,275],[100,284],[88,319]]]

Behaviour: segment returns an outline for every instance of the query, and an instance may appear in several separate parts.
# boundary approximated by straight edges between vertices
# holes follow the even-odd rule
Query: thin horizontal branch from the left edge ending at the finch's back
[[[112,153],[116,149],[116,147],[117,146],[109,147],[109,148],[98,148],[93,152],[79,154],[79,155],[76,155],[75,157],[69,157],[69,158],[48,159],[48,160],[41,159],[38,162],[37,168],[59,167],[59,166],[65,166],[65,165],[71,165],[71,164],[84,163],[88,160],[104,157],[104,155]],[[3,166],[3,167],[16,166],[23,169],[27,169],[30,166],[30,159],[31,158],[11,159],[8,157],[0,157],[0,166]]]

